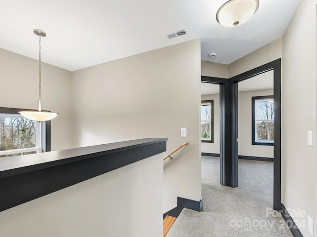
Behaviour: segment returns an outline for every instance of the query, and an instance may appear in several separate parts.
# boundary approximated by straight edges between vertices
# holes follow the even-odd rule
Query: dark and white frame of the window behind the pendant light
[[[6,107],[0,107],[0,115],[1,114],[13,114],[13,115],[20,115],[18,111],[22,110],[28,110],[28,109],[16,109],[16,108],[6,108]],[[42,148],[41,152],[50,152],[51,151],[51,121],[43,121],[40,122],[41,126],[41,134],[37,134],[37,136],[40,136],[40,147]],[[37,131],[38,133],[38,131]],[[40,152],[38,148],[26,148],[26,149],[17,149],[17,150],[10,150],[9,154],[12,153],[19,153],[21,151],[23,152],[32,152],[37,151]],[[6,153],[3,153],[1,155],[5,155]]]

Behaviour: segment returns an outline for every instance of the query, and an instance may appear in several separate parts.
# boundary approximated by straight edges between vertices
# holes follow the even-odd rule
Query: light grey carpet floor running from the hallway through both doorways
[[[292,237],[273,211],[273,162],[239,160],[239,187],[219,184],[219,158],[202,157],[202,212],[184,208],[167,237]]]

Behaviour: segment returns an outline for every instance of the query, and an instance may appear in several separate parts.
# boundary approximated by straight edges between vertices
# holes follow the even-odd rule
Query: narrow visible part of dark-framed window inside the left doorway
[[[201,104],[202,142],[213,142],[213,100]]]

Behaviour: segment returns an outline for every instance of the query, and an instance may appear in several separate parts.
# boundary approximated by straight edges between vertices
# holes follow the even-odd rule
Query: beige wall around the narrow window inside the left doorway
[[[202,100],[213,100],[213,143],[202,142],[202,152],[219,154],[219,94],[202,95]]]

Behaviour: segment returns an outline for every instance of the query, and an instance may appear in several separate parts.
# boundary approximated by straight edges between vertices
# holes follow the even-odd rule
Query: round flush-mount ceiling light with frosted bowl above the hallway
[[[240,26],[256,13],[259,4],[259,0],[229,0],[217,11],[217,22],[225,27]]]

